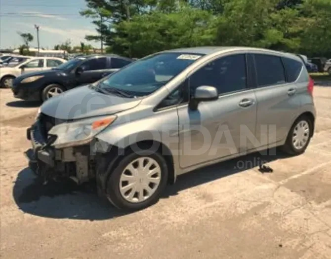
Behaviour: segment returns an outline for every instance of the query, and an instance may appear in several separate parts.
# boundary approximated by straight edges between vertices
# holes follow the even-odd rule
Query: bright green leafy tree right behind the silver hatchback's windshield
[[[116,27],[118,36],[114,38],[112,50],[143,57],[171,48],[210,45],[214,39],[213,20],[209,12],[187,4],[178,6],[172,13],[153,11],[136,15]],[[128,53],[129,49],[131,53]]]

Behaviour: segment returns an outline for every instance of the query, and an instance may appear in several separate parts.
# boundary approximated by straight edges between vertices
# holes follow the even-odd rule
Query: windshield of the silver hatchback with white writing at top
[[[137,60],[115,74],[100,81],[99,88],[124,91],[132,96],[149,95],[189,65],[202,54],[165,52]]]

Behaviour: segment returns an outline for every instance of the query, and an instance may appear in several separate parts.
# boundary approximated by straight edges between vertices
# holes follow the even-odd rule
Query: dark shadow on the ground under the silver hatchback
[[[282,154],[261,156],[260,153],[253,153],[195,170],[179,176],[174,185],[167,186],[162,197],[171,198],[183,189],[202,185],[253,167],[258,168],[261,160],[267,163],[284,157]],[[271,173],[272,169],[262,168],[260,172]],[[42,185],[29,168],[19,172],[13,188],[13,197],[23,212],[46,218],[94,221],[125,215],[109,203],[100,200],[94,184],[78,186],[68,180]]]

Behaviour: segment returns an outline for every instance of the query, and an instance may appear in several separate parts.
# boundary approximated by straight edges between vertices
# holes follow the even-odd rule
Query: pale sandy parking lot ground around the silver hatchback
[[[93,188],[39,185],[22,152],[38,104],[1,89],[3,259],[330,259],[331,87],[315,87],[316,133],[297,157],[254,155],[178,178],[153,207],[121,214]]]

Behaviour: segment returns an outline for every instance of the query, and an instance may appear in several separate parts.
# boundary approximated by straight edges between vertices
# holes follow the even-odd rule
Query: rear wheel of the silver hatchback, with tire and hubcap
[[[302,128],[299,124],[307,125],[309,132],[308,133],[304,132],[304,131],[302,132],[302,134],[306,137],[306,141],[305,142],[302,141],[302,142],[300,142],[302,145],[296,146],[297,141],[294,142],[294,133],[298,128]],[[304,126],[304,128],[305,128],[305,126]],[[298,117],[294,121],[294,123],[290,129],[290,132],[286,139],[285,145],[282,147],[282,150],[290,155],[302,154],[308,147],[308,144],[309,144],[311,136],[312,136],[312,130],[313,130],[312,121],[309,119],[308,116],[302,115],[302,116]],[[300,131],[299,131],[299,134],[301,134]]]

